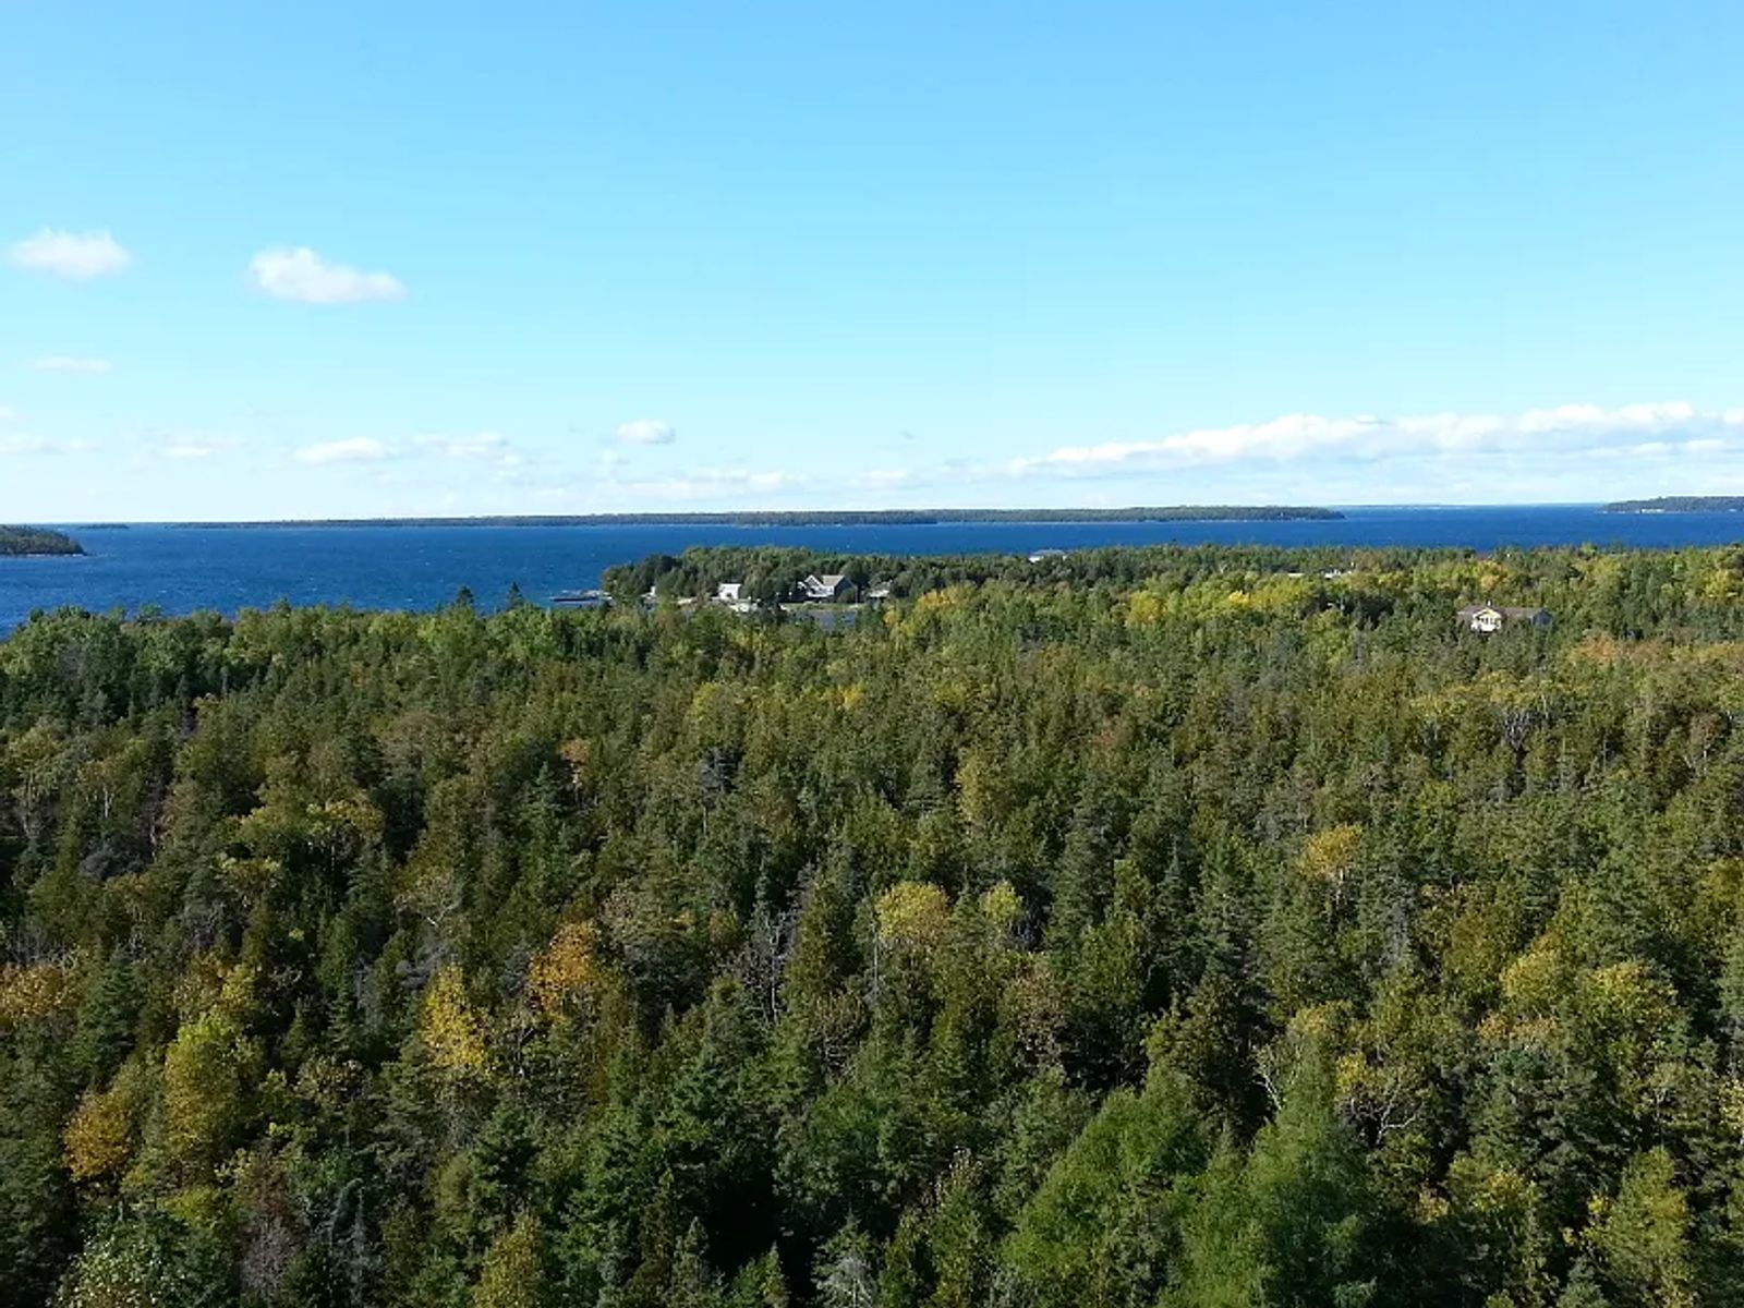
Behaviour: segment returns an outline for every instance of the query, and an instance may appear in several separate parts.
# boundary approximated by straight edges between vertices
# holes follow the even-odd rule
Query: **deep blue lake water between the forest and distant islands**
[[[1029,553],[1099,544],[1277,546],[1599,544],[1666,549],[1744,539],[1744,514],[1603,514],[1589,506],[1346,509],[1338,521],[942,523],[928,527],[131,527],[77,530],[84,558],[0,558],[0,631],[33,609],[157,605],[235,612],[291,603],[429,609],[460,586],[480,605],[511,582],[530,600],[598,584],[612,563],[694,544],[787,544],[844,553]]]

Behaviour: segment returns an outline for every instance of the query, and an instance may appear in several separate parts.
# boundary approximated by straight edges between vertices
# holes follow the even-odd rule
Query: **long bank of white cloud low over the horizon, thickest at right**
[[[1744,485],[1744,408],[1666,401],[1561,405],[1512,415],[1289,413],[1151,439],[1062,445],[1015,459],[909,464],[869,452],[863,464],[851,459],[821,481],[792,469],[717,466],[638,476],[633,467],[633,455],[614,441],[595,452],[586,485],[546,480],[525,494],[614,509],[1601,501],[1638,494],[1643,485],[1653,494]]]

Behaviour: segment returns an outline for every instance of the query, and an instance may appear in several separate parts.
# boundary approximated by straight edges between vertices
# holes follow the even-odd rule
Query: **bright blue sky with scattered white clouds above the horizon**
[[[0,520],[1744,492],[1744,5],[0,3]]]

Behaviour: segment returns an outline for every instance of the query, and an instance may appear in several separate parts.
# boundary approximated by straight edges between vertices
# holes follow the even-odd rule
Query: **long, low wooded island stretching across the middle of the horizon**
[[[1128,509],[752,509],[743,513],[576,513],[494,518],[302,518],[283,521],[181,521],[173,527],[935,527],[1018,521],[1332,521],[1338,509],[1294,504],[1175,504]]]

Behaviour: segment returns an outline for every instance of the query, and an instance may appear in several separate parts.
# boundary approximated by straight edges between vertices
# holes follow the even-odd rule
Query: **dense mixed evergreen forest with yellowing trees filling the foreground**
[[[0,1305],[1744,1301],[1744,549],[794,567],[5,638]]]

